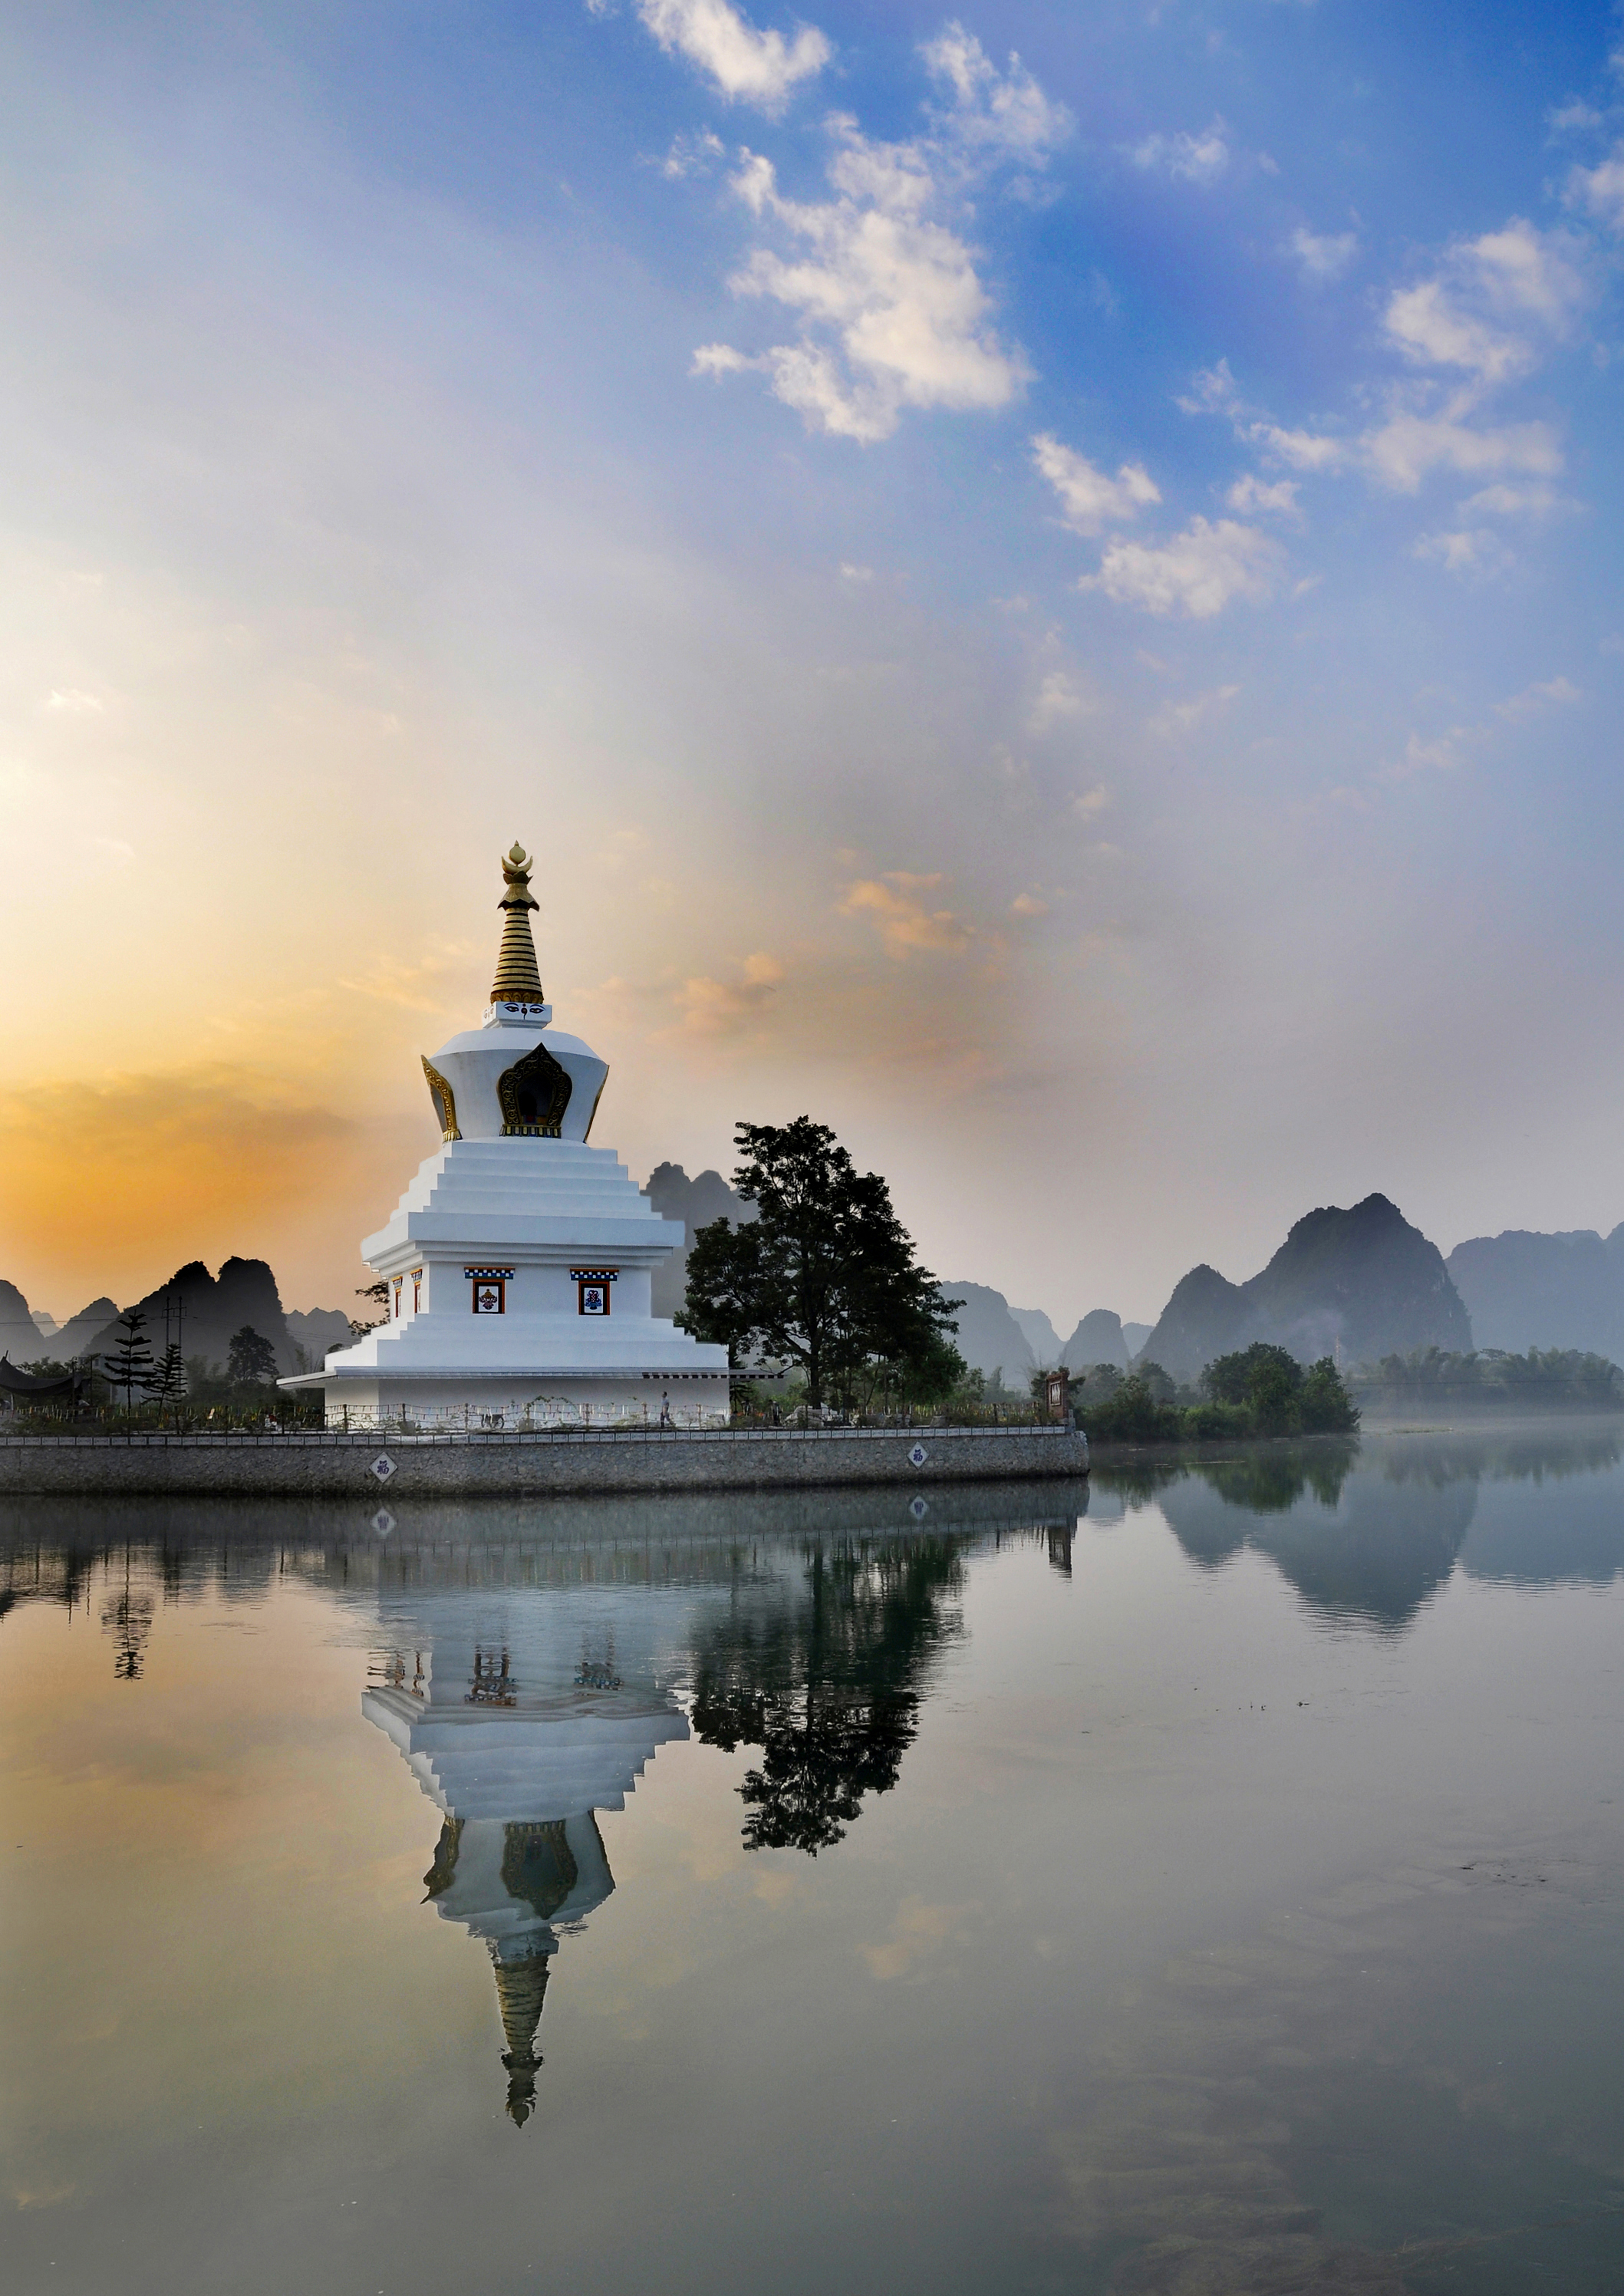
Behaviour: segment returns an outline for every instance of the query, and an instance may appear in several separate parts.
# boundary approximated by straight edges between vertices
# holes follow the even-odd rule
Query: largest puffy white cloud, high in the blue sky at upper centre
[[[802,338],[753,360],[705,344],[696,372],[765,367],[811,427],[864,443],[889,439],[905,406],[1006,406],[1029,367],[988,326],[972,250],[928,214],[930,147],[868,142],[850,119],[834,131],[834,200],[786,200],[772,161],[751,152],[733,177],[744,204],[802,246],[758,248],[728,285],[797,312]]]

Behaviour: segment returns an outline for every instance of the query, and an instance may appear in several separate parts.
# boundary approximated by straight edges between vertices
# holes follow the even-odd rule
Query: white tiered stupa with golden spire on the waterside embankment
[[[609,1077],[554,1008],[531,941],[531,859],[503,861],[485,1022],[425,1058],[441,1148],[368,1235],[388,1318],[322,1371],[328,1426],[721,1424],[728,1350],[650,1313],[650,1272],[682,1247],[588,1132]]]

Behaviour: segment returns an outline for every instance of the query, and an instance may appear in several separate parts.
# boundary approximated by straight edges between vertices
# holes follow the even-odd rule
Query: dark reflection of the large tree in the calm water
[[[815,1857],[864,1795],[889,1793],[919,1729],[930,1662],[962,1632],[962,1538],[813,1543],[806,1580],[763,1614],[735,1603],[694,1646],[705,1745],[763,1750],[740,1786],[744,1846]]]

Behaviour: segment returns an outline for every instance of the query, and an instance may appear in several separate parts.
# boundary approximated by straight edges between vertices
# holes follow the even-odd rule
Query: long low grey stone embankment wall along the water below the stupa
[[[622,1435],[0,1435],[0,1497],[544,1497],[1008,1483],[1089,1472],[1070,1428]]]

